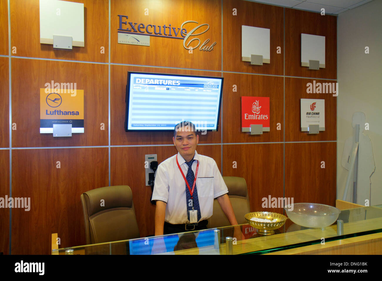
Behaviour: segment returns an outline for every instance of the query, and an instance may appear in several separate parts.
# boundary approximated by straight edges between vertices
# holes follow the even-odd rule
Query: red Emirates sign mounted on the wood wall
[[[269,97],[241,97],[242,129],[262,125],[263,130],[269,132],[269,123]]]

